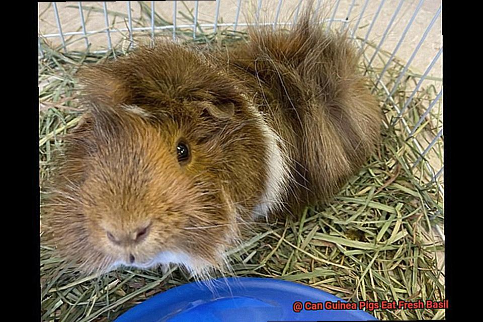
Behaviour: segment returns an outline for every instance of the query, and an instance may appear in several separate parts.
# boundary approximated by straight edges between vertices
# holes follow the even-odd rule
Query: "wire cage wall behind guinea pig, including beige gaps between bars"
[[[66,52],[112,51],[115,56],[116,52],[125,53],[137,39],[146,36],[154,43],[157,37],[168,34],[174,41],[188,37],[196,40],[206,33],[214,36],[226,32],[236,34],[250,24],[246,12],[255,12],[255,24],[273,28],[288,26],[296,23],[305,3],[303,0],[216,0],[102,2],[101,6],[83,2],[39,4],[39,59],[51,47]],[[382,90],[384,105],[393,111],[392,119],[385,126],[401,127],[418,154],[412,167],[421,168],[424,183],[436,185],[444,197],[443,164],[430,162],[432,155],[442,153],[443,145],[441,1],[317,0],[314,11],[320,10],[328,13],[327,28],[349,29],[362,53],[364,65],[375,71],[373,91]],[[64,13],[68,15],[63,16]],[[383,54],[386,60],[381,63]],[[395,77],[391,75],[395,81],[387,83],[389,67],[395,61],[401,68]],[[405,96],[404,101],[397,100],[400,86],[409,76],[418,81],[407,89],[411,94]],[[414,116],[414,106],[418,105],[415,102],[421,101],[417,97],[422,88],[428,87],[434,88],[431,101],[425,102]],[[429,126],[428,116],[435,113],[440,117],[431,125],[433,134],[422,135],[422,129]],[[418,119],[408,122],[409,117]],[[423,159],[427,162],[420,167]]]

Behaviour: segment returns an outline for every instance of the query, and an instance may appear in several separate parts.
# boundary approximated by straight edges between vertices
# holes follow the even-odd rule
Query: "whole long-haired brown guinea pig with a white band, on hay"
[[[84,272],[204,276],[255,219],[336,193],[374,151],[381,112],[346,37],[309,21],[81,71],[86,112],[53,168],[46,241]]]

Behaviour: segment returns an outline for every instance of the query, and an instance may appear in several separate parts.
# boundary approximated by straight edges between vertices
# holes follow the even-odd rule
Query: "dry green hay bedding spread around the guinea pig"
[[[168,22],[159,21],[159,25],[163,23]],[[186,31],[185,35],[188,34],[191,36],[192,31]],[[216,35],[203,33],[197,42],[201,45],[229,43],[244,36],[241,32],[219,28]],[[122,48],[122,45],[115,48]],[[81,64],[124,54],[122,49],[105,54],[62,53],[59,48],[49,48],[45,43],[43,49],[44,57],[39,63],[41,181],[49,175],[52,152],[61,146],[61,135],[79,119],[73,73]],[[381,51],[379,62],[384,65],[388,56]],[[392,88],[403,66],[398,60],[391,62],[382,82],[384,86]],[[366,66],[361,65],[361,68]],[[367,70],[374,81],[378,72],[377,67]],[[395,115],[391,104],[403,106],[420,77],[408,70],[388,100],[384,86],[377,87],[375,95],[387,102],[383,107],[386,124],[391,124]],[[436,85],[420,88],[405,113],[410,128],[436,97],[440,79],[430,80]],[[441,127],[441,107],[433,111],[414,136],[419,142],[430,142]],[[429,158],[420,157],[418,143],[407,136],[401,122],[386,126],[380,149],[327,208],[307,207],[299,221],[257,225],[251,239],[230,251],[233,274],[295,281],[345,300],[443,300],[441,254],[444,245],[433,229],[444,220],[438,188],[442,176],[431,181],[428,170],[442,166],[442,139],[434,145],[434,155]],[[44,321],[113,320],[156,293],[192,281],[178,267],[172,267],[165,274],[160,269],[117,270],[81,279],[64,268],[62,261],[44,246],[41,246],[40,270]],[[379,319],[441,319],[445,316],[444,310],[435,309],[379,309],[372,313]]]

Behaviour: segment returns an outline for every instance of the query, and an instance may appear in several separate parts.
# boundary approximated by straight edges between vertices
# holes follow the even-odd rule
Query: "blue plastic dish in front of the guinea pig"
[[[134,306],[115,322],[258,322],[376,320],[362,310],[293,310],[294,302],[346,301],[310,286],[269,278],[221,278],[174,287]]]

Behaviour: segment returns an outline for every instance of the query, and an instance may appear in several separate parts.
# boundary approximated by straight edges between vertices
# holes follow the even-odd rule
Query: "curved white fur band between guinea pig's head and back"
[[[251,102],[247,99],[248,102]],[[265,193],[260,203],[254,209],[254,218],[266,217],[270,210],[280,209],[283,193],[289,177],[288,163],[284,144],[280,137],[268,126],[262,113],[253,104],[249,104],[249,111],[258,120],[260,130],[268,143],[268,178],[265,184]]]

